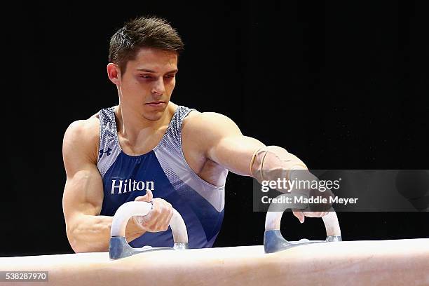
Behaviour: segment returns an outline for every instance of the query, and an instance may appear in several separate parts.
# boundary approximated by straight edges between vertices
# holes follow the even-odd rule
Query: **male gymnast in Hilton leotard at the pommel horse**
[[[261,182],[275,179],[263,170],[287,170],[287,177],[307,170],[284,148],[244,136],[230,118],[171,102],[183,49],[175,29],[154,16],[130,20],[111,36],[107,75],[118,105],[71,123],[64,134],[62,206],[75,252],[108,251],[112,218],[133,200],[153,206],[128,221],[132,247],[171,247],[172,207],[186,223],[189,247],[212,247],[229,171]],[[300,222],[327,214],[293,213]]]

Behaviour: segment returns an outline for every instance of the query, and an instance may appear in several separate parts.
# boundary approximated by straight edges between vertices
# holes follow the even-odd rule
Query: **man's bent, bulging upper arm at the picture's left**
[[[64,135],[62,151],[67,181],[62,207],[67,229],[79,223],[84,215],[100,214],[102,207],[102,177],[96,165],[97,134],[92,135],[91,128],[85,123],[72,123]]]

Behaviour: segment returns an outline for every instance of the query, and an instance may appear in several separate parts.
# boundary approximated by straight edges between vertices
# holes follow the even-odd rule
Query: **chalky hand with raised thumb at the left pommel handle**
[[[145,216],[134,216],[134,223],[143,231],[158,232],[166,231],[173,214],[172,205],[162,198],[154,198],[152,191],[148,190],[146,195],[138,196],[135,201],[152,202],[152,209]]]

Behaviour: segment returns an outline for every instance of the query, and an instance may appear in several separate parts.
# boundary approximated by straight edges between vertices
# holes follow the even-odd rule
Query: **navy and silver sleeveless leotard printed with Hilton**
[[[103,179],[101,215],[113,216],[123,203],[144,196],[172,204],[186,224],[189,247],[212,247],[224,217],[225,188],[198,177],[182,151],[182,122],[193,109],[179,106],[163,138],[147,154],[130,156],[119,145],[114,107],[100,110],[100,149],[97,168]],[[227,172],[227,171],[226,171]],[[132,247],[172,247],[172,232],[144,233],[132,240]]]

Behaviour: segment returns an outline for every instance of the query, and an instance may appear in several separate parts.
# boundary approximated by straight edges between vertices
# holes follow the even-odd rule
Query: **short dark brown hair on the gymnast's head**
[[[156,16],[139,17],[125,22],[125,26],[111,36],[109,62],[118,64],[124,74],[127,62],[135,59],[140,48],[159,48],[179,55],[184,44],[167,20]]]

